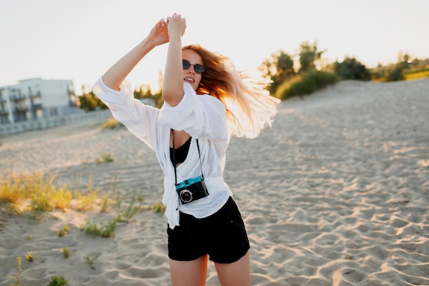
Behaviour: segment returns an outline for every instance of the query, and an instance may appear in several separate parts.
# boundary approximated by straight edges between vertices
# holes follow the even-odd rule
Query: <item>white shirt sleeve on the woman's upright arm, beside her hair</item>
[[[225,106],[211,95],[197,95],[187,82],[180,103],[173,107],[164,102],[158,119],[173,130],[184,130],[195,138],[213,141],[228,138]]]

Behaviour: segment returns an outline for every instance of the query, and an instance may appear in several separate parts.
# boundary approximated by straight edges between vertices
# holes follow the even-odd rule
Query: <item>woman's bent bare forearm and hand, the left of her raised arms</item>
[[[119,91],[120,86],[127,75],[136,67],[136,64],[149,53],[154,47],[162,45],[169,41],[167,23],[161,19],[134,49],[129,51],[125,56],[113,64],[103,75],[103,82],[106,86]]]

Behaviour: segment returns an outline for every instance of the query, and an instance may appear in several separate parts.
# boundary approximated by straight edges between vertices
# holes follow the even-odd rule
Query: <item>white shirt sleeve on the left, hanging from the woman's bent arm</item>
[[[93,86],[93,92],[108,106],[115,119],[154,150],[159,109],[135,99],[127,80],[120,88],[120,91],[114,91],[104,84],[102,78],[99,78]]]

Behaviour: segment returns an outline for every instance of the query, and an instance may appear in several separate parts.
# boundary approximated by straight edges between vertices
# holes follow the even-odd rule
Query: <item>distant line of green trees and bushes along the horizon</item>
[[[343,61],[326,62],[323,51],[317,47],[317,42],[305,41],[299,46],[296,54],[279,50],[266,58],[258,67],[262,76],[271,81],[267,90],[271,95],[280,99],[302,96],[313,93],[339,80],[373,80],[392,82],[397,80],[412,80],[429,77],[429,59],[412,58],[408,53],[400,53],[395,63],[367,68],[356,58],[345,57]],[[153,92],[149,84],[144,84],[134,90],[136,99],[152,99],[154,104],[162,106],[162,72],[159,73],[158,91]],[[84,110],[107,108],[101,100],[90,91],[79,96],[79,106]]]

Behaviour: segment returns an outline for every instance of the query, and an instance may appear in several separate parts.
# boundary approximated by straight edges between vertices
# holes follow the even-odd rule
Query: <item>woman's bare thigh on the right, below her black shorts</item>
[[[250,286],[249,251],[233,263],[215,263],[217,276],[222,286]]]

